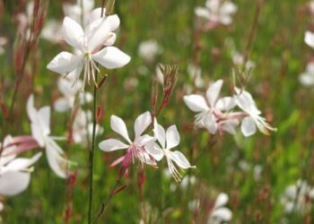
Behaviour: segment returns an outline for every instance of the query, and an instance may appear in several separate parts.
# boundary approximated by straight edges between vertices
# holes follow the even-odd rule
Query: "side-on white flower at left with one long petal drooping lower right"
[[[34,106],[34,96],[31,95],[27,102],[27,113],[31,120],[31,134],[39,146],[46,148],[48,164],[58,177],[68,176],[70,161],[65,159],[64,151],[50,136],[50,108],[44,107],[37,110]]]

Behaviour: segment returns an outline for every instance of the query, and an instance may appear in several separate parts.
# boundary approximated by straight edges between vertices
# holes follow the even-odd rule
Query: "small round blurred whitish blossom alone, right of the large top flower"
[[[138,47],[138,55],[146,62],[152,63],[155,56],[161,54],[162,47],[153,39],[143,41]]]

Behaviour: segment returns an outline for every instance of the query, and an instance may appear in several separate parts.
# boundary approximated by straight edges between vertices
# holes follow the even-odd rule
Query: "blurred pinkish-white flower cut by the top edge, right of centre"
[[[231,1],[207,0],[205,7],[196,7],[195,13],[197,16],[205,18],[208,22],[230,25],[232,15],[236,13],[237,10],[237,5],[233,4]]]

